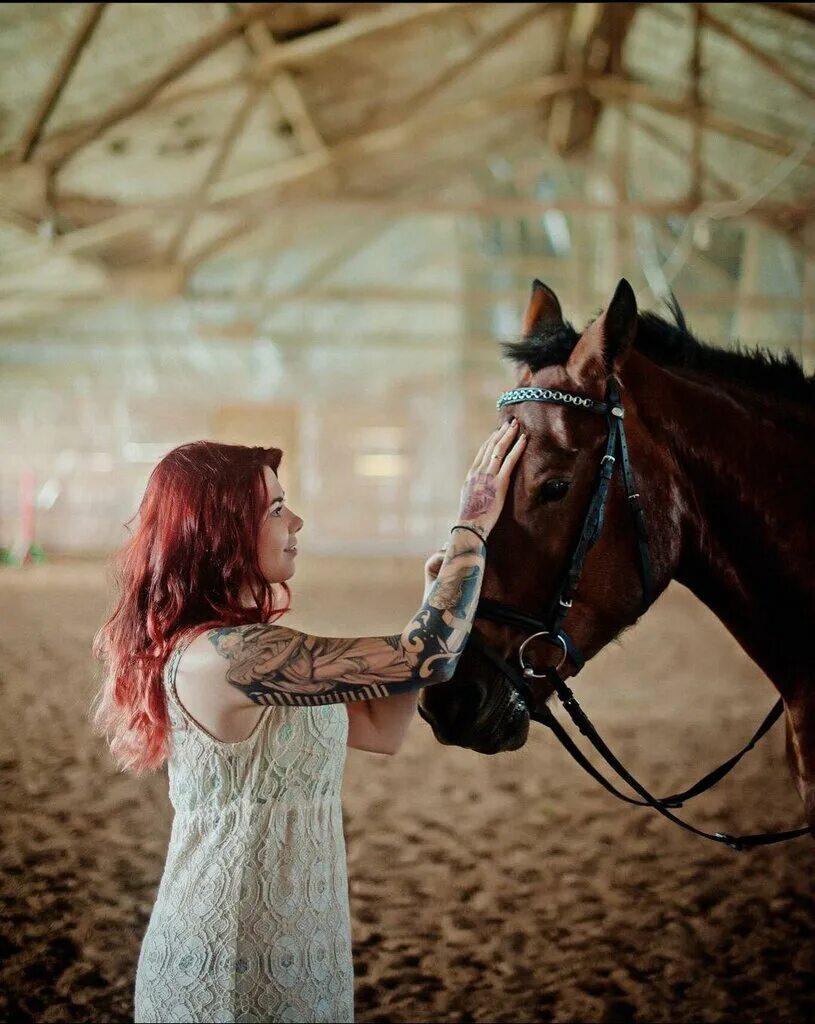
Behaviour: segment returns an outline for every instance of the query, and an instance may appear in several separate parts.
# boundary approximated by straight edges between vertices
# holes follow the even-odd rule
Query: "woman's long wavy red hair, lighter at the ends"
[[[280,449],[195,441],[153,470],[134,531],[116,563],[119,599],[94,641],[106,674],[93,720],[119,766],[136,772],[167,759],[170,722],[164,666],[182,633],[272,622],[271,585],[260,571],[257,537]],[[129,525],[129,524],[128,524]],[[251,593],[246,607],[242,595]]]

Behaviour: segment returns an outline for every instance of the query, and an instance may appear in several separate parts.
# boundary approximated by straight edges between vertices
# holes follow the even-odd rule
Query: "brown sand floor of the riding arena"
[[[420,581],[415,561],[312,558],[292,622],[392,632]],[[89,737],[105,603],[98,567],[0,574],[3,1020],[132,1020],[170,812],[164,775],[118,774]],[[680,589],[576,688],[661,792],[733,753],[775,695]],[[396,758],[350,752],[345,809],[361,1022],[815,1017],[807,839],[750,854],[694,839],[600,791],[543,729],[485,758],[417,722]],[[780,725],[693,820],[800,823]]]

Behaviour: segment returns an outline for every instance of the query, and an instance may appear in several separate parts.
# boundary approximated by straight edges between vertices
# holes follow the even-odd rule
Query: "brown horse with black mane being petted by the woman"
[[[578,334],[564,322],[554,293],[534,282],[523,338],[505,347],[518,367],[517,387],[542,392],[509,392],[503,399],[501,416],[519,419],[529,440],[489,538],[482,598],[540,614],[564,593],[598,469],[609,459],[603,453],[613,420],[590,412],[604,402],[606,410],[609,393],[618,389],[615,415],[625,415],[635,489],[648,524],[650,579],[645,585],[631,488],[615,473],[602,528],[585,555],[570,603],[561,608],[569,650],[539,639],[523,664],[533,665],[538,676],[558,660],[563,676],[573,674],[581,664],[574,651],[592,657],[671,580],[679,581],[718,615],[780,693],[792,775],[815,828],[809,642],[815,626],[815,378],[789,355],[705,345],[687,330],[676,303],[673,313],[675,324],[638,313],[623,281],[605,312]],[[532,393],[559,397],[525,400]],[[575,395],[586,399],[585,408],[574,403]],[[636,505],[637,496],[631,497]],[[534,632],[483,617],[476,626],[499,665],[501,657],[517,665],[522,642]],[[533,686],[541,707],[551,686],[539,678]],[[421,710],[442,742],[495,754],[526,741],[529,710],[515,695],[507,674],[484,654],[484,643],[471,642],[453,683],[423,691]]]

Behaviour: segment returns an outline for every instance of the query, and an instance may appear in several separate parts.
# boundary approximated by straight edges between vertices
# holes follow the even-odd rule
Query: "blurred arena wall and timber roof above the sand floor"
[[[303,550],[435,547],[533,278],[815,367],[812,4],[3,4],[0,547],[275,444]]]

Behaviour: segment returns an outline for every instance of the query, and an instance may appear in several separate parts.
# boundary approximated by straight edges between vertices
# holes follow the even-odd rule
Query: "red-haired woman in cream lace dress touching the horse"
[[[280,451],[202,441],[156,467],[97,639],[97,724],[123,768],[168,761],[175,811],[137,1021],[353,1019],[345,748],[395,753],[419,689],[452,676],[524,440],[512,423],[481,445],[424,604],[386,637],[276,625],[303,525]]]

